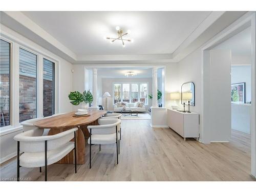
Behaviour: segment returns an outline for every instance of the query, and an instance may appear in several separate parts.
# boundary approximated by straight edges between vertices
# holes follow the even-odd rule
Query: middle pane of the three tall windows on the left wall
[[[19,122],[36,118],[37,55],[19,48]]]

